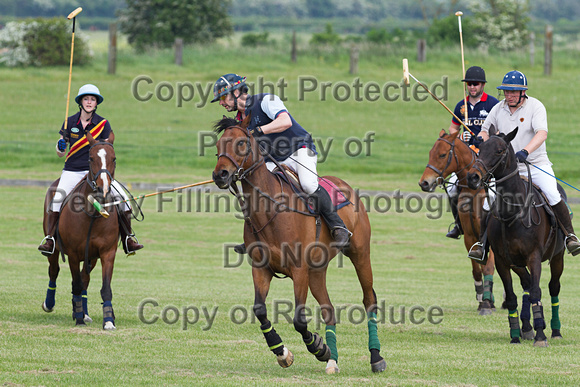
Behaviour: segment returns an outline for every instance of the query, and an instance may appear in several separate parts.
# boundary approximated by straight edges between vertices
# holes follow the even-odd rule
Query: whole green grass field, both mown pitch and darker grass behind
[[[418,191],[417,181],[427,163],[428,151],[439,130],[449,126],[448,113],[431,99],[336,102],[320,101],[319,94],[310,93],[305,101],[298,101],[300,77],[352,84],[355,77],[348,74],[348,57],[342,54],[302,55],[297,64],[292,64],[287,50],[268,56],[261,49],[233,53],[229,45],[236,43],[226,41],[221,46],[188,49],[185,65],[176,67],[171,64],[171,52],[138,56],[121,43],[118,71],[111,76],[106,74],[104,35],[93,39],[95,61],[85,68],[73,69],[71,94],[74,96],[88,82],[101,89],[105,102],[99,113],[111,121],[116,134],[116,176],[127,184],[188,184],[209,179],[215,165],[215,148],[206,149],[201,156],[198,133],[209,131],[212,122],[223,114],[219,106],[196,107],[197,96],[183,107],[177,107],[175,99],[140,102],[133,98],[131,85],[141,75],[154,81],[143,85],[144,92],[154,91],[160,82],[205,85],[227,72],[247,75],[253,81],[263,76],[274,83],[284,77],[289,84],[286,104],[291,113],[315,138],[323,142],[334,139],[333,144],[337,144],[331,147],[328,160],[319,165],[319,172],[339,175],[365,190]],[[568,53],[567,57],[557,55],[561,62],[555,63],[551,77],[542,75],[541,64],[530,67],[525,57],[517,55],[483,57],[468,52],[466,58],[468,65],[481,64],[486,68],[487,91],[494,95],[495,85],[505,72],[518,67],[526,73],[530,95],[539,97],[548,109],[548,149],[554,170],[558,177],[580,186],[575,162],[579,156],[576,123],[580,113],[574,109],[580,97],[570,93],[580,83],[580,76],[570,65],[577,60],[578,52]],[[433,52],[428,56],[429,62],[423,64],[415,63],[412,50],[376,58],[365,54],[361,55],[358,76],[363,83],[399,83],[403,56],[409,57],[413,75],[429,85],[449,77],[445,102],[452,108],[461,96],[459,52]],[[67,70],[0,68],[0,178],[52,180],[60,175],[62,160],[54,154],[54,143],[65,114]],[[74,110],[71,104],[71,113]],[[376,133],[371,154],[348,157],[344,143],[349,138],[362,140],[367,132]],[[75,328],[66,263],[61,262],[54,312],[47,314],[41,309],[48,265],[36,247],[42,238],[45,189],[0,186],[2,384],[580,384],[580,260],[566,257],[560,293],[564,339],[550,340],[548,348],[534,348],[530,342],[510,345],[506,311],[498,309],[486,317],[477,314],[471,265],[463,242],[444,237],[451,215],[430,219],[425,208],[416,213],[370,213],[375,290],[388,313],[386,322],[379,324],[381,353],[388,364],[380,375],[370,370],[366,323],[356,324],[344,316],[337,327],[338,375],[324,373],[324,365],[307,352],[292,323],[282,315],[275,328],[296,359],[288,369],[277,365],[258,324],[250,320],[250,266],[243,263],[224,267],[224,243],[241,240],[243,223],[233,213],[214,212],[212,206],[200,212],[179,211],[173,201],[164,203],[163,211],[159,211],[156,199],[146,199],[144,221],[134,222],[146,248],[134,257],[117,255],[112,282],[117,330],[104,332],[101,328],[99,267],[89,288],[89,311],[94,322]],[[573,190],[568,193],[580,197]],[[206,197],[204,193],[204,200]],[[580,205],[573,204],[572,208],[580,213]],[[543,300],[549,305],[548,265],[544,264],[543,269]],[[328,287],[335,307],[348,311],[361,304],[360,286],[348,259],[344,258],[342,265],[339,260],[332,261]],[[521,290],[516,289],[521,296]],[[497,275],[494,291],[501,300],[503,288]],[[158,304],[145,309],[145,320],[159,317],[153,324],[139,317],[139,306],[147,300]],[[284,306],[292,300],[291,280],[274,280],[267,303],[270,317],[274,302]],[[312,297],[308,306],[316,306]],[[390,307],[393,313],[389,312]],[[418,309],[419,318],[426,318],[429,308],[439,307],[442,321],[414,324],[409,317],[413,307],[424,309]],[[184,308],[189,308],[191,320],[194,310],[200,311],[195,324],[184,326]],[[217,310],[211,327],[204,310]],[[234,323],[233,320],[242,320],[242,310],[248,312],[248,320]],[[404,323],[389,321],[392,318],[398,322],[402,315]],[[551,316],[548,306],[545,315],[547,319]],[[163,316],[169,322],[176,321],[164,322]],[[356,318],[356,313],[353,316]],[[322,331],[312,324],[311,329]]]

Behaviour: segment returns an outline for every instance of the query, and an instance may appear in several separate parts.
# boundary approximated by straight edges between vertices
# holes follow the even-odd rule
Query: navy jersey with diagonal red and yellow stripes
[[[109,121],[93,114],[91,122],[83,128],[81,124],[81,113],[70,116],[67,119],[67,128],[64,130],[64,123],[60,129],[60,135],[70,145],[66,161],[64,162],[64,170],[66,171],[88,171],[89,169],[89,141],[86,133],[91,131],[92,136],[96,140],[103,141],[111,135],[111,125]]]

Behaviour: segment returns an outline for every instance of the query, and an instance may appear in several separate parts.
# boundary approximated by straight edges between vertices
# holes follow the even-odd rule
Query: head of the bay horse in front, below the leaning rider
[[[242,180],[262,161],[257,141],[248,130],[250,117],[240,124],[233,118],[225,117],[214,128],[222,133],[217,142],[218,161],[212,173],[216,185],[225,189]]]

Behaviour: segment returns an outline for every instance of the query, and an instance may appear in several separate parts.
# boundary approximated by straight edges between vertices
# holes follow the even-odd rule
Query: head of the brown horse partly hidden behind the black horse
[[[459,131],[447,134],[444,129],[439,132],[439,138],[429,151],[429,163],[419,180],[419,186],[425,192],[433,192],[437,184],[459,169],[456,153],[456,139]],[[459,141],[461,142],[461,141]]]

